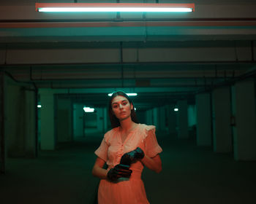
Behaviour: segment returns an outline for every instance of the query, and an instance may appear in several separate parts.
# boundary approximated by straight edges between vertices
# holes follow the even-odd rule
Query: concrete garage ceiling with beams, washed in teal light
[[[135,90],[141,107],[193,103],[195,93],[255,77],[256,1],[193,2],[189,14],[85,15],[39,13],[34,0],[2,0],[0,68],[77,101]]]

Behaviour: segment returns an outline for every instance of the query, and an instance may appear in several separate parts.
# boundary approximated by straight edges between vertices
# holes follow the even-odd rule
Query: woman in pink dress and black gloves
[[[108,107],[113,127],[105,133],[95,151],[97,160],[92,174],[101,178],[98,189],[99,204],[148,203],[140,176],[144,165],[159,173],[162,162],[155,127],[139,124],[128,95],[113,93]],[[107,163],[108,169],[103,166]]]

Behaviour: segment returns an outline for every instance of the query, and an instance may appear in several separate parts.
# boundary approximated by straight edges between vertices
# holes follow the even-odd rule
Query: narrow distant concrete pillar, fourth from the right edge
[[[178,138],[189,138],[187,100],[178,101]]]

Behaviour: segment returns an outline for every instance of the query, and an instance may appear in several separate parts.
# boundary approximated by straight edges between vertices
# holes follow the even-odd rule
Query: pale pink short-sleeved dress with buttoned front
[[[95,154],[105,160],[108,169],[113,168],[121,160],[121,156],[136,149],[138,146],[148,157],[154,157],[162,148],[157,143],[155,126],[139,124],[127,136],[124,143],[121,142],[120,127],[113,128],[105,133],[105,136]],[[148,203],[146,191],[140,176],[143,171],[142,162],[138,161],[131,165],[132,176],[119,178],[117,183],[101,179],[98,189],[99,204],[139,204]]]

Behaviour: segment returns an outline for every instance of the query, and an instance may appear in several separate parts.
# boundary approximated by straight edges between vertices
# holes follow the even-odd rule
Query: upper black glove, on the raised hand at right
[[[142,160],[144,156],[145,154],[143,150],[140,149],[140,147],[137,147],[135,150],[125,153],[121,157],[120,164],[130,166],[132,163]]]

